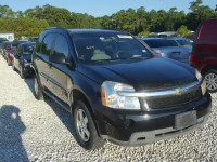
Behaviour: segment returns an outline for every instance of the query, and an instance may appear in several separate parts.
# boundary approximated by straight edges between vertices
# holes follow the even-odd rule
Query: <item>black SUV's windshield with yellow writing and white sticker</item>
[[[153,55],[126,33],[77,33],[73,36],[82,63],[149,58]]]

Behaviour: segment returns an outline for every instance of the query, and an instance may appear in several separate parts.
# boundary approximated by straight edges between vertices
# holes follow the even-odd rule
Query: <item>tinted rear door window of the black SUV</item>
[[[50,55],[51,50],[52,50],[52,44],[55,39],[55,35],[49,33],[46,36],[41,43],[41,53],[44,55]]]

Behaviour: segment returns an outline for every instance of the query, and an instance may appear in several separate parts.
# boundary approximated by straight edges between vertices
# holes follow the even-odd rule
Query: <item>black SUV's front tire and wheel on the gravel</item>
[[[81,116],[84,120],[79,119]],[[87,105],[82,100],[78,100],[76,103],[73,117],[74,117],[73,118],[74,126],[76,131],[75,138],[82,148],[87,150],[94,150],[104,146],[105,141],[99,137],[91,113],[88,110]],[[79,120],[82,122],[79,122]],[[82,131],[82,130],[86,130],[86,131]],[[87,135],[87,131],[89,132],[89,137]],[[84,135],[86,139],[82,137],[81,132],[86,132]]]

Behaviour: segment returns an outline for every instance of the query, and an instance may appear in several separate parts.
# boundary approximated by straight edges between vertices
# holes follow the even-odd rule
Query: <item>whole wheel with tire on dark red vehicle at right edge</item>
[[[209,70],[204,75],[204,81],[206,83],[206,89],[209,93],[217,92],[217,70]]]

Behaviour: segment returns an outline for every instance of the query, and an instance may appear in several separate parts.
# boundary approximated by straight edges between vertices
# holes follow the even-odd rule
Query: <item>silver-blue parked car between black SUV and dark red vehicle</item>
[[[182,63],[189,64],[190,52],[188,49],[179,46],[171,39],[166,38],[142,38],[142,40],[158,55]]]

